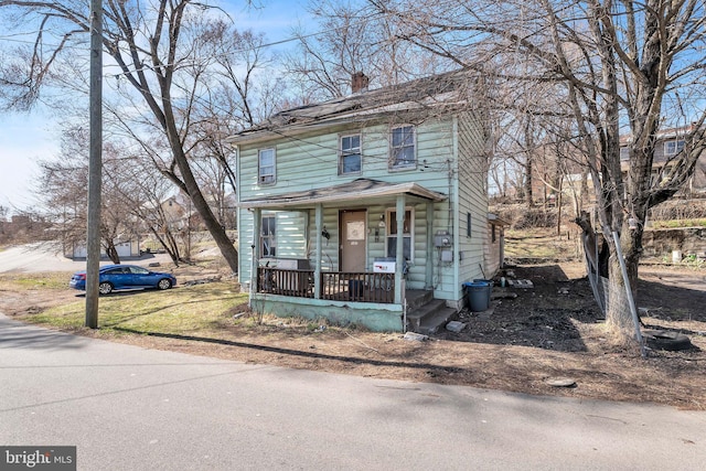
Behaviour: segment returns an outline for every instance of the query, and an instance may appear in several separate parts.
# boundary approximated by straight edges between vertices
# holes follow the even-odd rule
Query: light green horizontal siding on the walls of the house
[[[399,120],[396,125],[406,124]],[[486,146],[481,124],[473,115],[435,117],[416,122],[415,139],[417,165],[414,169],[388,168],[389,125],[349,125],[329,128],[325,131],[299,133],[296,138],[279,136],[257,143],[238,147],[239,202],[259,200],[278,194],[333,186],[359,178],[381,180],[389,183],[415,182],[426,189],[448,195],[448,200],[430,205],[410,201],[414,225],[414,259],[407,275],[408,289],[432,288],[435,298],[445,299],[451,306],[462,302],[462,282],[484,278],[482,272],[483,245],[486,238],[488,199]],[[362,171],[356,175],[339,175],[338,149],[342,133],[360,132],[362,147]],[[276,151],[276,182],[258,184],[258,149],[274,148]],[[314,208],[278,213],[277,254],[280,257],[315,257]],[[322,270],[339,270],[341,211],[367,211],[366,269],[373,270],[373,261],[384,257],[387,227],[381,227],[381,215],[395,208],[395,197],[374,202],[357,202],[352,197],[343,204],[323,205],[323,225],[330,239],[323,239]],[[265,210],[263,210],[265,212]],[[467,236],[467,213],[471,213],[472,227]],[[441,261],[441,249],[428,250],[427,221],[432,221],[432,234],[447,232],[453,239],[452,261]],[[250,250],[253,213],[239,208],[240,276],[250,278]],[[280,225],[281,224],[281,225]],[[377,233],[377,235],[376,235]],[[259,243],[259,242],[257,242]],[[247,248],[247,249],[245,249]],[[243,250],[245,249],[245,250]],[[427,279],[427,260],[432,263],[432,279]]]

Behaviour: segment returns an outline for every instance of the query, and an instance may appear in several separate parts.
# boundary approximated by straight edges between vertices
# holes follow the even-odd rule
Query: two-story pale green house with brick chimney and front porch
[[[352,95],[228,138],[254,311],[404,331],[463,307],[463,282],[498,269],[484,257],[491,146],[478,81],[454,72],[367,90],[354,75]]]

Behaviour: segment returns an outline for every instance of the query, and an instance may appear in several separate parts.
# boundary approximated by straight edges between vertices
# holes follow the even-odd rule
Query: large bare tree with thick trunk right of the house
[[[554,109],[570,116],[598,201],[609,275],[623,289],[619,234],[634,291],[648,210],[674,195],[706,147],[703,90],[705,7],[700,0],[368,0],[397,21],[398,36],[499,81],[553,84]],[[523,64],[523,75],[510,65]],[[489,71],[488,67],[484,68]],[[535,113],[548,113],[539,110]],[[668,171],[651,180],[657,132],[694,122]],[[620,137],[630,136],[628,170]],[[633,223],[629,228],[628,221]],[[592,231],[592,229],[591,229]],[[623,288],[621,288],[623,287]],[[609,303],[608,321],[632,338],[630,310]]]

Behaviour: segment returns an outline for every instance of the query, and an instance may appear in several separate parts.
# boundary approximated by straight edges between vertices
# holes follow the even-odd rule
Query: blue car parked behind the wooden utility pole
[[[108,295],[116,289],[170,289],[176,285],[176,278],[171,274],[150,271],[135,265],[106,265],[98,272],[100,295]],[[85,291],[86,271],[75,272],[68,286]]]

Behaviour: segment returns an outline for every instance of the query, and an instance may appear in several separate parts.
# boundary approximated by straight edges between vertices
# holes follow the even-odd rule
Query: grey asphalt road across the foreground
[[[695,470],[705,430],[704,413],[242,364],[0,314],[0,445],[77,446],[79,470]]]

